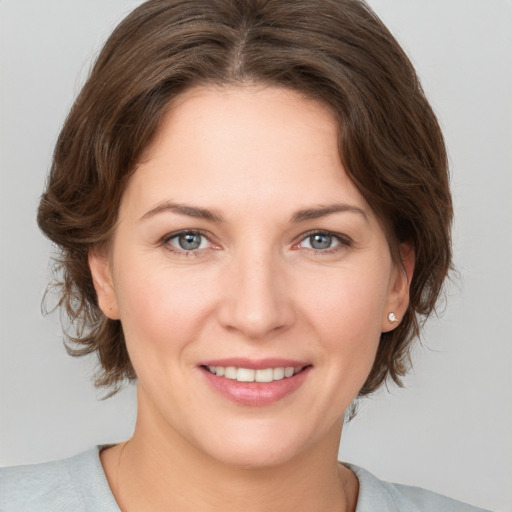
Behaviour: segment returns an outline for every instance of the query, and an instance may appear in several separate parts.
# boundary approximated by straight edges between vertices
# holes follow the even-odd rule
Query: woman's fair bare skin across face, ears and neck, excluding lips
[[[133,437],[101,454],[123,510],[355,509],[357,478],[337,462],[344,412],[396,325],[388,313],[407,308],[413,255],[402,246],[403,266],[393,262],[337,137],[328,109],[286,89],[195,88],[174,101],[108,250],[90,255],[139,379]],[[293,220],[333,204],[349,208]],[[201,230],[200,248],[181,248],[181,230]],[[312,230],[337,235],[320,250]],[[254,407],[204,378],[201,362],[227,357],[310,368],[293,393]]]

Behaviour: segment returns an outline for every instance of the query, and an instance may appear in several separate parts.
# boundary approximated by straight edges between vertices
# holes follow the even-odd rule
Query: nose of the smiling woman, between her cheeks
[[[219,321],[228,330],[259,340],[288,329],[295,312],[283,264],[272,254],[249,252],[225,269]]]

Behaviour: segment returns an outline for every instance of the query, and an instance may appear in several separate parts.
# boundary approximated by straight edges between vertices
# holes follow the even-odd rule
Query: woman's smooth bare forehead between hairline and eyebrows
[[[365,201],[338,150],[323,104],[266,86],[198,87],[172,102],[129,184],[148,205],[189,199],[207,206]]]

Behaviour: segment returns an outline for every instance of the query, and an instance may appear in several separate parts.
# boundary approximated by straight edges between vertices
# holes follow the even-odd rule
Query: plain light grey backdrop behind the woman
[[[133,0],[0,0],[0,464],[72,455],[132,431],[135,393],[101,401],[94,359],[43,317],[50,246],[35,211],[52,146],[101,43]],[[379,477],[512,511],[512,2],[373,0],[444,129],[458,275],[406,388],[360,406],[340,457]]]

